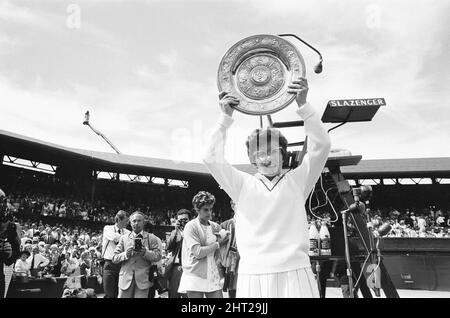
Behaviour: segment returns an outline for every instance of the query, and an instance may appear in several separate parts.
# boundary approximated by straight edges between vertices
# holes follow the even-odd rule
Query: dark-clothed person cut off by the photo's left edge
[[[0,298],[5,297],[6,282],[4,265],[14,264],[19,257],[20,238],[16,224],[10,220],[6,211],[6,195],[0,189]]]

